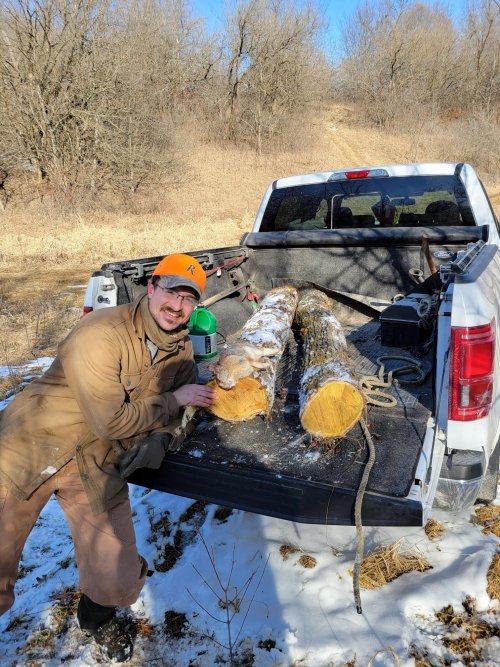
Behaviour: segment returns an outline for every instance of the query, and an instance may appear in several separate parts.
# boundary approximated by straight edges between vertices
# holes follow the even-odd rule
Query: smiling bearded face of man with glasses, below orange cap
[[[148,285],[148,299],[149,312],[164,331],[174,331],[186,324],[198,303],[195,293],[188,288],[165,289],[152,284]]]

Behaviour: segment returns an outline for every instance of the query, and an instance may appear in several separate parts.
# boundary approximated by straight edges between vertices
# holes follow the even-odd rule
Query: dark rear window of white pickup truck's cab
[[[363,178],[274,190],[260,231],[475,225],[457,176]]]

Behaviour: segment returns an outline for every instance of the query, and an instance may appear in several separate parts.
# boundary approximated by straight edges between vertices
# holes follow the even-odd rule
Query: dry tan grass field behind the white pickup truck
[[[45,196],[0,211],[0,366],[53,355],[80,316],[83,288],[104,262],[237,244],[269,183],[291,174],[410,161],[454,161],[451,126],[391,135],[335,105],[304,130],[301,149],[257,155],[192,142],[183,184],[134,212],[61,213]],[[469,147],[470,152],[470,147]],[[500,175],[474,164],[497,212]],[[14,378],[12,379],[14,382]],[[3,384],[9,384],[6,380]],[[6,388],[4,386],[4,388]],[[1,389],[1,387],[0,387]]]

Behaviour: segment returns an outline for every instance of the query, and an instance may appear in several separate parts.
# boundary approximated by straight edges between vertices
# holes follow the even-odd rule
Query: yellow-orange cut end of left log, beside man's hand
[[[215,380],[209,384],[217,388],[219,396],[208,408],[216,417],[229,422],[240,422],[253,419],[267,410],[266,390],[254,377],[239,380],[231,389],[222,389]]]

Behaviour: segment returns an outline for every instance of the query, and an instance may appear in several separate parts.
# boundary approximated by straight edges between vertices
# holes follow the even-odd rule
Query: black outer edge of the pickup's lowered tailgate
[[[158,470],[139,470],[129,481],[287,521],[354,525],[356,493],[352,490],[285,475],[204,463],[180,454],[167,454]],[[362,521],[365,526],[421,526],[422,505],[415,500],[365,493]]]

